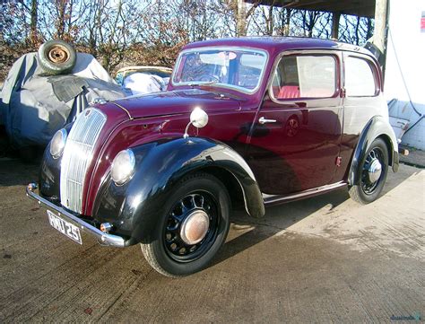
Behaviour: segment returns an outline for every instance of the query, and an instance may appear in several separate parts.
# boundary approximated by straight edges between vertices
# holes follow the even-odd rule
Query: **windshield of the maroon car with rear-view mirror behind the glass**
[[[245,48],[194,48],[178,58],[174,85],[214,84],[255,92],[265,70],[264,51]]]

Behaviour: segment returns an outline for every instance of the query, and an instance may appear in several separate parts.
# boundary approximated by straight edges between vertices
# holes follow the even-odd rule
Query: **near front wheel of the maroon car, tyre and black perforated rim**
[[[164,276],[202,270],[226,240],[230,197],[220,180],[196,173],[181,180],[165,204],[144,258]]]

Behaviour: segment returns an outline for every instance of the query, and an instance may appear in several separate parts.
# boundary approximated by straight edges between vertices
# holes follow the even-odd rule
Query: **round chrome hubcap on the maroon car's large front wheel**
[[[180,237],[188,245],[196,244],[204,240],[209,226],[208,215],[203,210],[196,210],[181,225]]]

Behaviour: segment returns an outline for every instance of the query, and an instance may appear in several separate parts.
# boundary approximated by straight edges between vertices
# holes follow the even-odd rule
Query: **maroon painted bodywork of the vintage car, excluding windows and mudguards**
[[[261,48],[267,52],[265,76],[258,90],[247,94],[219,86],[192,89],[169,83],[168,92],[98,105],[108,122],[93,155],[97,158],[87,173],[90,181],[85,182],[83,189],[82,214],[91,215],[101,181],[120,150],[164,137],[182,136],[189,114],[196,106],[208,113],[209,123],[199,130],[190,128],[190,134],[229,144],[245,158],[266,194],[288,195],[346,180],[360,132],[377,115],[373,107],[382,106],[382,102],[378,105],[364,102],[365,107],[372,109],[365,109],[362,115],[344,112],[343,51],[370,57],[369,52],[331,40],[297,38],[213,39],[189,44],[184,49],[216,46]],[[320,49],[336,57],[338,87],[334,97],[273,101],[268,86],[277,57],[283,51],[306,49]],[[373,58],[370,60],[377,66]],[[378,68],[376,73],[380,81]],[[383,101],[379,93],[368,100],[374,98]],[[260,117],[276,119],[277,123],[260,125],[257,122]],[[343,157],[341,167],[335,164],[338,156]]]

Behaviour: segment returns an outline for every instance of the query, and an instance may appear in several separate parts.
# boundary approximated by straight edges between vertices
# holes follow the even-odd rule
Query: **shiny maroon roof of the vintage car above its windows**
[[[335,41],[332,39],[312,39],[307,37],[235,37],[228,39],[208,39],[186,45],[183,49],[216,46],[236,46],[242,48],[260,48],[272,53],[274,51],[295,49],[338,49],[366,54],[373,57],[368,49]]]

